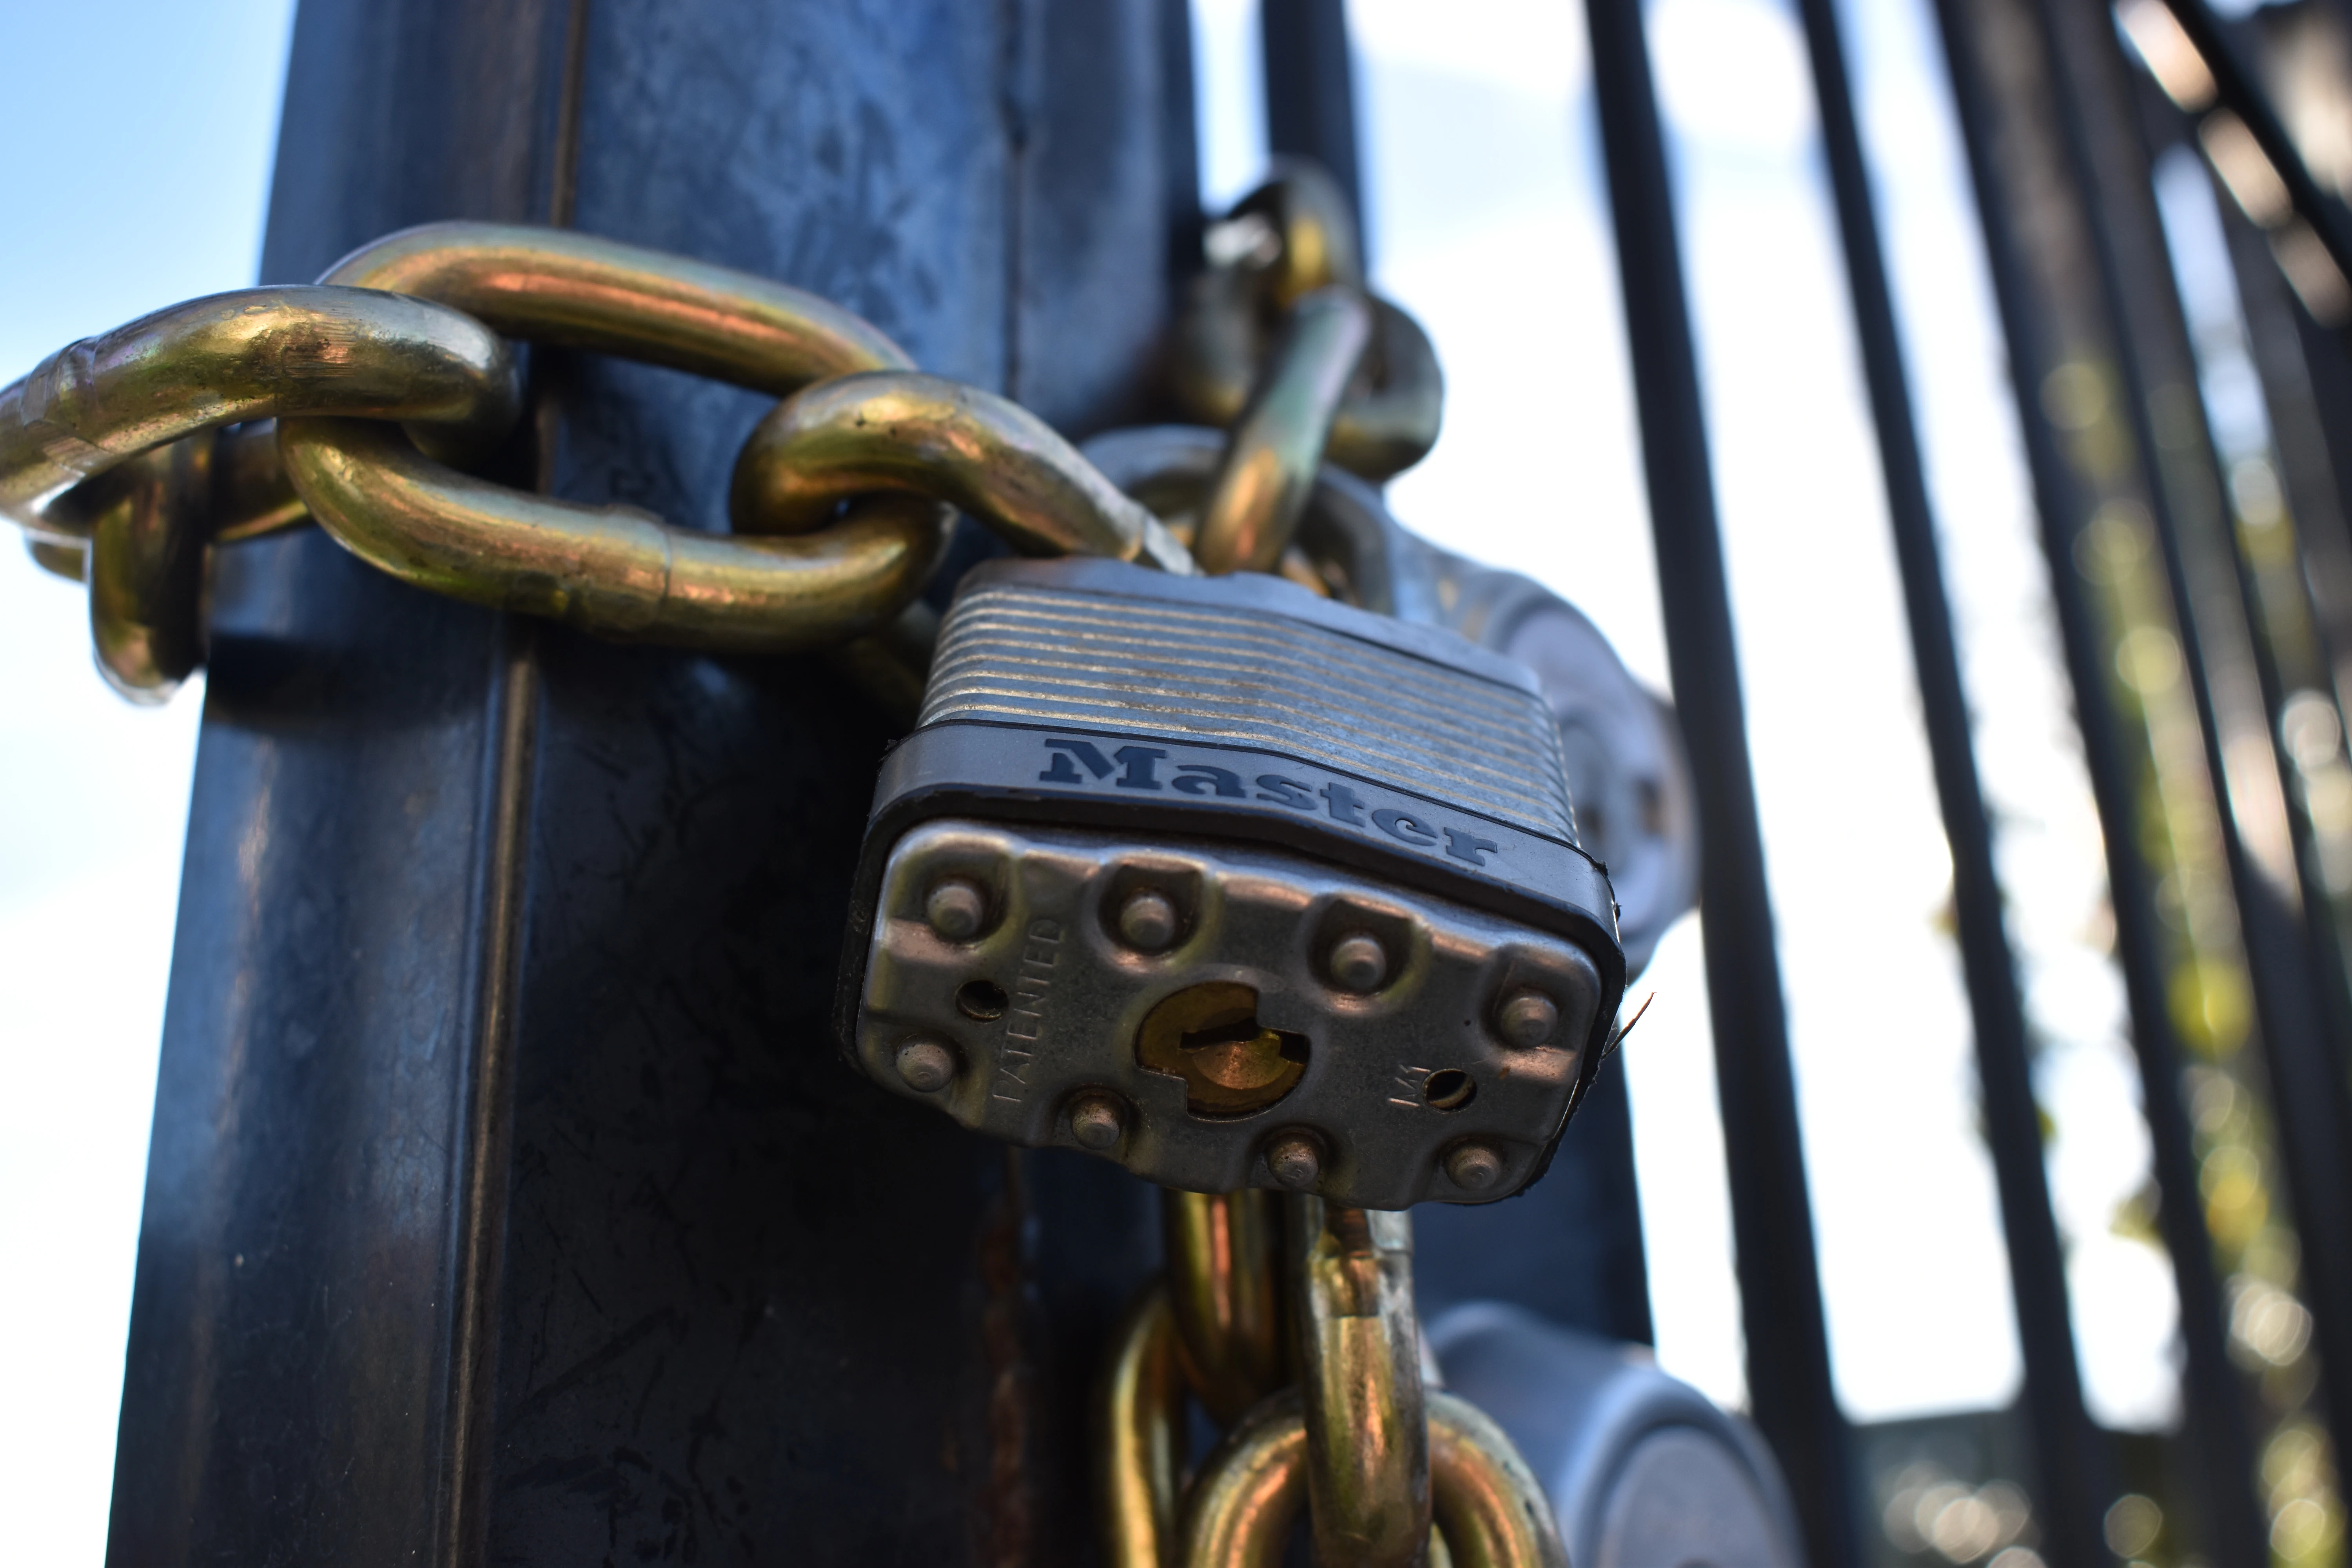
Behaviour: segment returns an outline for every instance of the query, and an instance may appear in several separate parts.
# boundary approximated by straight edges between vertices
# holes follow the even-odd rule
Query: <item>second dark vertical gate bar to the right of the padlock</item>
[[[2032,1432],[2044,1519],[2044,1556],[2091,1568],[2105,1561],[2100,1519],[2114,1497],[2114,1462],[2082,1403],[2082,1368],[2067,1309],[2065,1251],[2051,1211],[2049,1168],[2042,1159],[2042,1114],[2034,1103],[2025,1044],[2025,1001],[2002,924],[2002,884],[1992,856],[1992,823],[1976,773],[1969,698],[1959,675],[1952,604],[1936,545],[1936,517],[1919,458],[1910,378],[1896,334],[1886,259],[1879,247],[1870,169],[1853,120],[1846,54],[1835,0],[1799,0],[1820,99],[1823,148],[1837,195],[1853,322],[1870,383],[1879,470],[1886,482],[1886,522],[1896,536],[1903,602],[1910,611],[1912,663],[1936,764],[1936,797],[1952,846],[1952,900],[1959,954],[1976,1023],[1976,1065],[1985,1093],[1985,1143],[2002,1192],[2002,1232],[2016,1295],[2018,1340],[2025,1352],[2025,1413]]]

